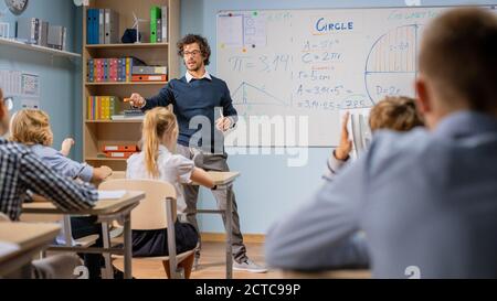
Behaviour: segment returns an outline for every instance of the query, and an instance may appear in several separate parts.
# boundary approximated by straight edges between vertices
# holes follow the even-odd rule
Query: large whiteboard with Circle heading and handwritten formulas
[[[286,131],[281,139],[232,144],[287,147],[286,136],[297,129],[286,117],[305,117],[308,137],[298,146],[337,146],[340,110],[414,97],[420,37],[446,9],[220,11],[216,71],[239,116],[248,123],[254,116],[279,117]],[[250,127],[240,130],[251,135]]]

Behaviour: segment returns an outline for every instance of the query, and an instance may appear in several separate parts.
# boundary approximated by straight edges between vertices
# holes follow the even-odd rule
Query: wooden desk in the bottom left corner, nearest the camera
[[[33,256],[49,247],[61,226],[57,224],[0,223],[0,243],[12,249],[0,250],[0,277],[21,271],[21,278],[31,278],[29,262]]]

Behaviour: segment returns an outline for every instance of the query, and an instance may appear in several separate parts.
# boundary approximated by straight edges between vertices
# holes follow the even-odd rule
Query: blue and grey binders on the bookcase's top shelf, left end
[[[119,14],[110,9],[86,11],[86,44],[119,43]]]

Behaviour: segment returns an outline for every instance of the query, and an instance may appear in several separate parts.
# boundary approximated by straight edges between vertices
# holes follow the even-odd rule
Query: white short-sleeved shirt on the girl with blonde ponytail
[[[144,152],[133,154],[127,160],[127,179],[154,179],[147,171]],[[190,178],[194,169],[193,161],[180,154],[172,154],[165,146],[159,146],[157,166],[159,170],[157,180],[169,182],[175,186],[177,193],[177,211],[178,214],[183,214],[187,208],[187,203],[184,202],[181,184],[191,183]]]

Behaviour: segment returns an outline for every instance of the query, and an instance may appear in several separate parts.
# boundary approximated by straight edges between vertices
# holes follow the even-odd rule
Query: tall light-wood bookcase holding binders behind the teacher
[[[139,19],[150,20],[150,7],[168,7],[168,41],[148,43],[150,24],[140,23],[141,42],[139,44],[86,44],[87,9],[113,9],[119,14],[119,40],[126,29],[134,23],[133,12]],[[179,40],[180,0],[91,0],[83,15],[83,158],[94,166],[107,165],[115,171],[126,170],[126,159],[102,158],[104,144],[137,144],[141,138],[141,120],[88,120],[88,96],[118,96],[120,100],[133,93],[144,97],[156,95],[167,82],[117,82],[88,83],[87,60],[136,56],[148,65],[165,65],[168,67],[168,78],[179,77],[180,58],[177,55],[176,43]],[[171,46],[170,46],[171,45]],[[128,105],[120,101],[118,108]]]

